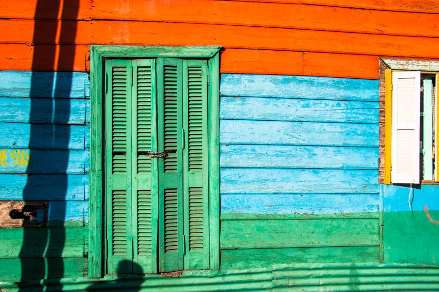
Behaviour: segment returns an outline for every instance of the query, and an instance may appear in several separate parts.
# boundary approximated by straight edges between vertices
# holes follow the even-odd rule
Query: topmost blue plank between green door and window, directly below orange
[[[261,74],[221,74],[220,94],[378,101],[379,80]]]

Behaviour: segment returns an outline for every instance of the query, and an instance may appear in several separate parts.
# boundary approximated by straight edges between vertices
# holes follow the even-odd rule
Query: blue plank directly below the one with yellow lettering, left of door
[[[88,174],[0,174],[0,200],[83,201]]]

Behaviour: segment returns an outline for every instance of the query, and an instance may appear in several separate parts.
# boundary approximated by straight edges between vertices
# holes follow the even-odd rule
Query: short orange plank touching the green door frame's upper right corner
[[[302,52],[225,49],[221,73],[303,75]]]

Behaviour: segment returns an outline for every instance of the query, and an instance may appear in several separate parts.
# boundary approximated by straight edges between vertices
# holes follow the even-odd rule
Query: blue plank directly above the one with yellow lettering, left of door
[[[88,126],[0,123],[0,148],[83,150],[88,136]]]

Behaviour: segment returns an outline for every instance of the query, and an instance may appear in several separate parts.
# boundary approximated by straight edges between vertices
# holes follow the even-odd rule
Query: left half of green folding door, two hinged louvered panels
[[[156,273],[157,160],[142,153],[157,147],[154,61],[107,60],[106,82],[108,273]]]

